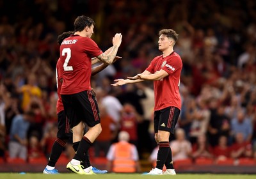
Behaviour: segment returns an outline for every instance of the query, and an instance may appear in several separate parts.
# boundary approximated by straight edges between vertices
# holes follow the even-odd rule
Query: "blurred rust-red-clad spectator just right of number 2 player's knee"
[[[117,134],[116,131],[112,131],[110,128],[110,124],[115,124],[115,121],[109,116],[106,111],[106,107],[99,103],[99,111],[100,111],[100,125],[102,127],[102,132],[97,137],[93,146],[95,148],[95,157],[106,157],[109,146],[111,145],[111,141]]]

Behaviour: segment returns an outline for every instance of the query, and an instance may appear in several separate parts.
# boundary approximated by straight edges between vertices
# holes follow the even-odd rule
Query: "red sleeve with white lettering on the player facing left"
[[[162,69],[170,75],[173,74],[175,70],[179,69],[181,66],[182,62],[180,59],[177,56],[172,56],[171,58],[168,58]]]

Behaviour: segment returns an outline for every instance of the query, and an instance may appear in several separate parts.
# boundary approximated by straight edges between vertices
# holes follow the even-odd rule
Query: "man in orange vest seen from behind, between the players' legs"
[[[128,132],[121,131],[118,134],[118,143],[111,144],[107,155],[108,171],[115,173],[140,172],[138,150],[134,144],[129,143],[129,137]]]

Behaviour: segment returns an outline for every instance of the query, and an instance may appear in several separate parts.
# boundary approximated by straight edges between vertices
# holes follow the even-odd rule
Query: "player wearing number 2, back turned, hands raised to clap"
[[[116,34],[111,51],[108,54],[103,53],[91,38],[93,27],[94,21],[90,17],[77,17],[74,22],[74,35],[65,38],[60,45],[60,61],[63,63],[61,99],[73,130],[73,146],[75,150],[77,148],[74,158],[67,164],[67,169],[89,175],[94,174],[92,169],[83,169],[80,161],[102,130],[99,107],[90,81],[92,58],[97,57],[106,64],[113,63],[122,42],[122,35]],[[89,129],[83,136],[84,123]]]

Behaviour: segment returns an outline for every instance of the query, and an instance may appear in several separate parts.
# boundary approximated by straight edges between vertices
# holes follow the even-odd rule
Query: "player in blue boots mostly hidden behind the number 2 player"
[[[65,38],[68,38],[70,35],[73,35],[74,31],[68,31],[65,33],[62,33],[61,35],[58,36],[58,44],[60,45]],[[111,49],[108,49],[105,53],[108,54],[108,52],[111,51]],[[116,56],[116,59],[120,59],[120,57]],[[92,65],[97,63],[99,59],[93,58],[92,59]],[[102,71],[104,68],[106,68],[108,65],[102,63],[99,66],[95,66],[92,68],[92,75],[95,75]],[[63,63],[61,63],[60,58],[57,61],[56,65],[56,82],[57,82],[57,93],[58,93],[58,101],[56,105],[57,109],[57,114],[58,114],[58,133],[57,133],[57,138],[56,141],[54,142],[52,146],[52,151],[51,155],[48,160],[48,164],[45,167],[43,173],[45,174],[58,174],[58,170],[55,169],[56,162],[60,158],[60,155],[65,148],[65,144],[70,139],[72,141],[72,133],[70,132],[70,126],[67,120],[67,117],[64,112],[64,107],[63,103],[61,100],[60,96],[60,91],[61,91],[61,84],[63,80]],[[106,170],[99,170],[95,167],[92,167],[90,164],[88,152],[85,155],[85,160],[83,162],[84,168],[90,167],[94,173],[107,173],[108,171]]]

